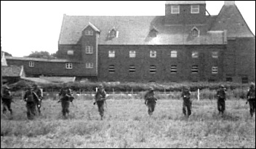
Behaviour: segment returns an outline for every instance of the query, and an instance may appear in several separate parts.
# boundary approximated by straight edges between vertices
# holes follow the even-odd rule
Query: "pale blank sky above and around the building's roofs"
[[[216,15],[224,1],[207,1]],[[244,20],[255,35],[255,1],[236,1]],[[57,51],[63,14],[159,16],[165,1],[1,1],[1,47],[12,56],[32,51]]]

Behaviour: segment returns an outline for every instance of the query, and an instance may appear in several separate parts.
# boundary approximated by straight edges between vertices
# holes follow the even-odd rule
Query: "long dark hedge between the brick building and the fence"
[[[235,82],[166,82],[166,83],[135,83],[135,82],[72,82],[68,83],[68,87],[74,91],[95,91],[98,85],[103,84],[105,90],[115,91],[115,92],[141,92],[148,90],[150,87],[153,87],[156,91],[164,92],[164,91],[181,91],[184,87],[189,87],[191,91],[196,91],[198,89],[203,90],[217,90],[220,85],[224,85],[225,88],[230,90],[244,89],[247,90],[249,88],[249,84],[241,84]],[[33,85],[33,82],[27,82],[25,80],[21,80],[15,84],[9,85],[12,88],[12,91],[16,90],[25,90],[28,85]],[[39,84],[41,88],[45,91],[59,91],[63,84]]]

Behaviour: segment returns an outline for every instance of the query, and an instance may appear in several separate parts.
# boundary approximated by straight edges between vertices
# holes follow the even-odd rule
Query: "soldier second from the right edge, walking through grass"
[[[217,110],[223,115],[225,111],[225,87],[220,85],[217,90]]]

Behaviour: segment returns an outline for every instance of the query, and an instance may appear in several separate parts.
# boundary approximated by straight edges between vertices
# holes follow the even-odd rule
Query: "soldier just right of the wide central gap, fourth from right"
[[[144,95],[145,105],[148,106],[148,115],[151,116],[153,111],[155,111],[156,101],[155,93],[153,88],[149,88],[148,92]]]

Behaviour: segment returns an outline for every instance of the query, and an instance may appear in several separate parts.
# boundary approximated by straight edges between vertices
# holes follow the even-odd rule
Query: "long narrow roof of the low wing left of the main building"
[[[32,58],[32,57],[12,57],[12,56],[6,56],[6,59],[7,60],[20,60],[20,61],[60,62],[60,63],[77,62],[77,61],[71,61],[68,59],[39,59],[39,58]]]

